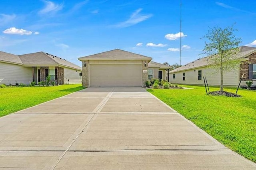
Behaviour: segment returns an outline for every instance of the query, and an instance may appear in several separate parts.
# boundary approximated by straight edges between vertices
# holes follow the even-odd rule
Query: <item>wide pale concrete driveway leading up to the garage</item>
[[[256,169],[143,88],[87,88],[0,118],[0,168]]]

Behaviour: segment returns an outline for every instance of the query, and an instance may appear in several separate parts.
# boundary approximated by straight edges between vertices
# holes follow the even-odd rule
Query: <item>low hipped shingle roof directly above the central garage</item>
[[[131,53],[121,49],[114,49],[111,51],[88,55],[85,57],[80,57],[78,59],[80,61],[83,61],[83,60],[140,60],[140,59],[152,60],[151,57],[147,57],[147,56],[136,54],[136,53]]]

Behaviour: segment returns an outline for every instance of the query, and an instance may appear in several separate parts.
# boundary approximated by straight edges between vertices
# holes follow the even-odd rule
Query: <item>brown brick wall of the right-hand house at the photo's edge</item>
[[[244,81],[252,80],[252,79],[249,79],[249,64],[256,63],[256,52],[252,53],[251,55],[248,55],[248,57],[246,58],[248,58],[249,60],[240,62],[240,79],[244,74],[244,77],[243,77]]]

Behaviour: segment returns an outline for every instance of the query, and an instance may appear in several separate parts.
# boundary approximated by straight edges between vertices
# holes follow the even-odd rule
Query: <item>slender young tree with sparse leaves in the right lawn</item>
[[[234,70],[240,62],[238,56],[238,45],[241,38],[236,38],[236,29],[231,27],[220,28],[219,26],[209,28],[208,33],[202,38],[206,38],[203,49],[204,54],[209,55],[208,64],[210,67],[220,70],[220,91],[223,91],[223,71]]]

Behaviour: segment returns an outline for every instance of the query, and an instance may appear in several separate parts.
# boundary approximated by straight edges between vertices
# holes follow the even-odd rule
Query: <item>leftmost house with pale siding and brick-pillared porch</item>
[[[0,84],[37,84],[48,75],[59,85],[68,80],[70,84],[81,83],[81,71],[78,65],[44,52],[14,55],[0,51]]]

